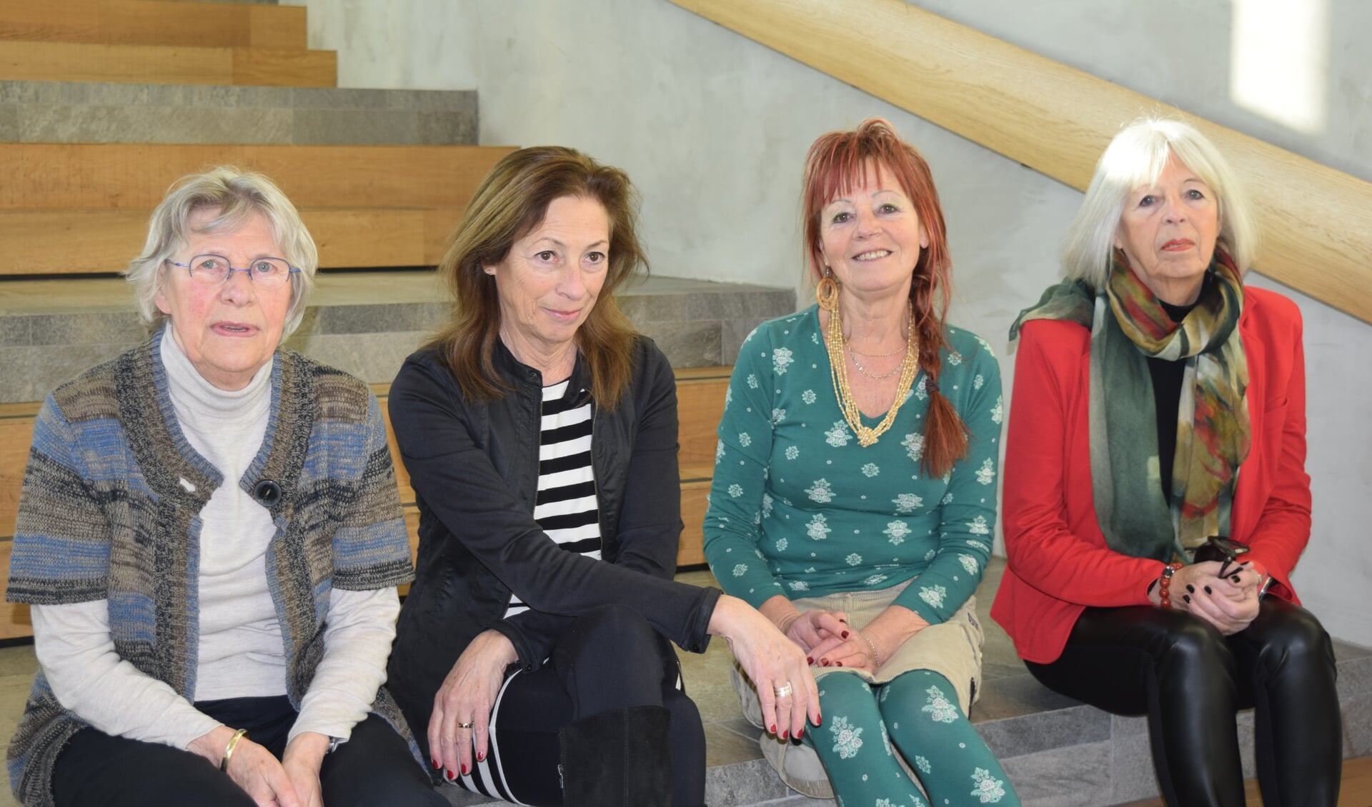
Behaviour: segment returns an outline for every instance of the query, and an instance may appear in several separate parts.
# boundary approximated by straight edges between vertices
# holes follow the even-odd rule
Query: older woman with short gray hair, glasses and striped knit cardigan
[[[281,348],[316,264],[270,179],[185,177],[128,269],[154,336],[44,401],[22,803],[446,803],[381,688],[412,570],[380,407]]]

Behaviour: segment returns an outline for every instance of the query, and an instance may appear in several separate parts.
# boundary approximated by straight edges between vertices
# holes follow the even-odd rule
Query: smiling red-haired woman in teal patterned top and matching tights
[[[803,744],[783,728],[763,751],[793,788],[847,804],[923,806],[921,786],[934,804],[1018,804],[967,722],[1000,371],[985,340],[944,322],[929,166],[885,121],[825,134],[805,159],[804,230],[818,303],[744,343],[705,517],[720,585],[819,680],[819,728]]]

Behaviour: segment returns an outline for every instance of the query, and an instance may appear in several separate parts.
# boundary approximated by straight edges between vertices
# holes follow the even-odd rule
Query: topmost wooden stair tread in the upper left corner
[[[3,3],[0,40],[303,51],[306,10],[166,0]]]

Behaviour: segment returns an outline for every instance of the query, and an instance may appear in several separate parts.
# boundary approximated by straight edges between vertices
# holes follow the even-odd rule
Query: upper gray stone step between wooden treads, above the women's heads
[[[0,81],[0,142],[476,145],[475,90]]]

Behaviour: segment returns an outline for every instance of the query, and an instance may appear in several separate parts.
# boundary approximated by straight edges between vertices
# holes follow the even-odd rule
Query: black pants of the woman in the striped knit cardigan
[[[202,700],[196,708],[247,729],[277,758],[296,712],[285,696]],[[377,715],[324,758],[320,785],[328,807],[447,807],[405,740]],[[254,807],[252,799],[204,758],[95,729],[77,732],[52,773],[58,807]]]

